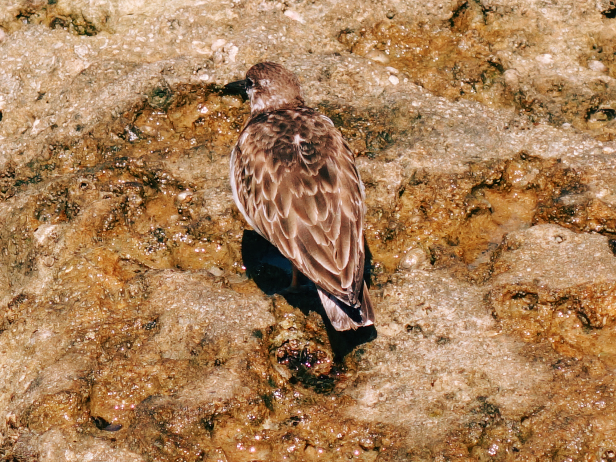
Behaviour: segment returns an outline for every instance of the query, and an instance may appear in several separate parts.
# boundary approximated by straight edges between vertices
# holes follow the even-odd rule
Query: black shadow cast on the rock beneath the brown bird
[[[371,261],[370,249],[365,245],[366,261]],[[331,322],[314,284],[304,275],[300,275],[302,285],[312,286],[312,290],[301,293],[285,293],[291,283],[291,263],[282,256],[280,251],[257,232],[245,230],[241,238],[241,257],[246,267],[246,274],[252,278],[256,285],[268,295],[282,294],[288,304],[301,310],[304,315],[310,311],[317,312],[325,323],[325,330],[330,339],[334,360],[340,362],[356,346],[370,342],[376,338],[374,325],[360,327],[357,330],[337,331]],[[370,267],[367,267],[370,270]],[[369,278],[366,278],[369,281]]]

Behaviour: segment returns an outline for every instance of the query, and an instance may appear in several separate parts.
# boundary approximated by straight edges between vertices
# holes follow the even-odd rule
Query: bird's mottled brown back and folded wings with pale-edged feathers
[[[354,306],[363,287],[363,186],[331,121],[309,108],[257,115],[234,153],[238,207],[249,224]]]

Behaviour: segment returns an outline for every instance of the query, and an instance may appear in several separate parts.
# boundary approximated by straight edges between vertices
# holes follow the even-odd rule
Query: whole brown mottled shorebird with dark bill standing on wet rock
[[[261,62],[225,91],[250,100],[230,156],[233,200],[257,233],[317,287],[335,330],[373,325],[363,277],[365,187],[355,156],[333,122],[307,107],[298,77]]]

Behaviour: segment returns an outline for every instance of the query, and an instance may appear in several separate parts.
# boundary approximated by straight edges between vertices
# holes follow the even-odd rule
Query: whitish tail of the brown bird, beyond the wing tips
[[[331,325],[336,330],[355,330],[361,326],[369,326],[375,322],[375,312],[372,308],[368,286],[363,283],[363,290],[355,306],[349,306],[329,292],[317,286],[325,314],[330,318]]]

